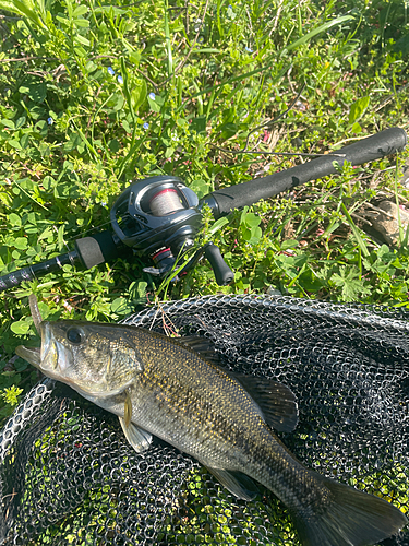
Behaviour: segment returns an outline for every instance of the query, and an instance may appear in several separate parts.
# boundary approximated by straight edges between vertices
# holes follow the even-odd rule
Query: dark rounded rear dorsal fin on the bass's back
[[[293,392],[282,383],[255,376],[228,371],[258,405],[264,420],[279,432],[291,432],[298,424]]]

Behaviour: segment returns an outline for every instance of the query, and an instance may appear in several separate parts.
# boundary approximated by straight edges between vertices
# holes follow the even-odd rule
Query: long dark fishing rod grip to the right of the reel
[[[354,144],[336,150],[333,154],[342,154],[344,157],[324,155],[311,162],[298,165],[280,173],[256,178],[249,182],[238,183],[230,188],[224,188],[212,192],[202,199],[213,210],[216,218],[229,214],[234,209],[250,206],[261,199],[272,198],[288,191],[297,186],[316,180],[324,176],[336,173],[334,162],[350,162],[353,166],[362,165],[366,162],[380,159],[397,151],[402,150],[407,144],[407,134],[404,129],[394,127],[380,133],[368,136]]]

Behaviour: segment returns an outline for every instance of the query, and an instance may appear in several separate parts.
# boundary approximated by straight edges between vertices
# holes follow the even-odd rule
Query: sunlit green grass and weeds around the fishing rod
[[[130,180],[171,174],[202,197],[392,126],[409,128],[404,0],[0,0],[0,274],[73,248],[109,224]],[[297,98],[297,100],[296,100]],[[289,107],[292,107],[289,109]],[[44,318],[118,321],[146,301],[215,293],[408,305],[407,234],[387,247],[362,206],[409,203],[408,152],[237,211],[205,214],[234,271],[202,261],[179,284],[140,259],[70,266],[0,299],[0,418],[36,382],[15,346]],[[371,180],[377,180],[376,187]],[[408,206],[409,207],[409,206]]]

